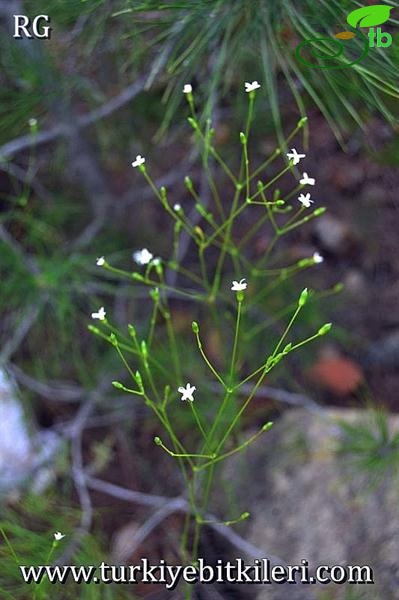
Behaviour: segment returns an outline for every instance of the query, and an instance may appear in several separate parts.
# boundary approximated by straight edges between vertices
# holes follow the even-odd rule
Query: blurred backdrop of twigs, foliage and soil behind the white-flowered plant
[[[101,305],[121,328],[146,322],[148,291],[99,272],[96,259],[104,255],[133,270],[132,253],[142,247],[170,256],[169,220],[131,162],[137,154],[146,156],[157,184],[167,186],[172,202],[183,203],[184,177],[201,178],[183,85],[193,85],[202,122],[212,119],[215,144],[234,163],[246,114],[244,82],[258,80],[255,157],[272,153],[298,120],[308,117],[295,144],[306,151],[317,178],[317,202],[328,211],[287,237],[284,251],[291,262],[313,252],[324,257],[322,265],[300,277],[321,296],[303,327],[332,321],[334,328],[267,381],[243,425],[249,431],[273,419],[280,427],[270,447],[281,450],[276,456],[287,505],[281,506],[280,479],[274,479],[276,467],[265,456],[270,448],[256,446],[250,457],[256,470],[247,472],[246,463],[238,461],[221,476],[222,495],[231,498],[233,510],[241,508],[245,489],[254,520],[238,526],[237,539],[209,527],[202,555],[211,562],[264,549],[289,562],[297,556],[290,554],[293,544],[298,555],[313,553],[320,562],[316,546],[325,537],[327,519],[332,529],[338,524],[338,533],[337,548],[330,540],[325,554],[352,563],[375,559],[383,576],[376,596],[329,590],[314,597],[399,598],[393,591],[397,555],[392,558],[399,529],[392,478],[399,457],[399,5],[391,5],[392,18],[384,24],[391,47],[370,49],[349,69],[321,70],[297,61],[296,46],[320,33],[342,31],[357,2],[1,3],[0,510],[3,529],[25,564],[43,564],[49,536],[57,530],[67,534],[64,564],[96,564],[104,557],[114,564],[140,556],[177,560],[173,540],[179,514],[170,511],[150,522],[146,535],[142,527],[159,509],[159,497],[181,493],[181,481],[152,443],[158,433],[153,417],[112,387],[124,372],[118,356],[87,329],[90,314]],[[51,38],[14,39],[15,14],[50,15]],[[256,257],[264,250],[259,237],[252,252]],[[193,260],[189,244],[181,260],[187,265]],[[264,307],[266,314],[276,313],[276,322],[286,297],[301,289],[290,286],[281,287]],[[333,289],[339,293],[323,296],[323,290]],[[182,339],[189,340],[187,305],[172,297],[171,306]],[[220,344],[217,337],[209,342],[216,360]],[[202,372],[195,349],[188,341],[184,348],[187,373]],[[259,348],[252,351],[255,359]],[[326,415],[333,415],[333,429],[325,429]],[[330,438],[333,450],[326,443]],[[324,467],[320,460],[327,461]],[[353,470],[346,472],[349,465]],[[326,472],[329,482],[336,478],[343,486],[339,510],[333,492],[312,503],[313,492],[304,483],[312,474],[312,480],[320,478],[314,487],[325,490]],[[355,491],[348,481],[356,481]],[[298,508],[299,525],[287,524],[286,539],[281,528],[285,511],[291,512],[293,503],[300,506],[307,494],[314,511],[319,514],[322,505],[325,511],[320,508],[320,523],[303,546],[303,528],[314,513]],[[390,517],[365,528],[382,518],[381,511]],[[343,515],[359,518],[348,539],[340,530]],[[297,543],[291,548],[290,536]],[[352,552],[359,540],[364,541],[360,557]],[[390,558],[379,555],[383,544]],[[31,598],[4,543],[0,553],[2,598]],[[172,597],[155,586],[100,587],[94,594],[91,586],[65,586],[57,597]],[[196,591],[198,598],[288,597],[287,591],[251,586],[205,587]],[[308,590],[298,598],[312,594]]]

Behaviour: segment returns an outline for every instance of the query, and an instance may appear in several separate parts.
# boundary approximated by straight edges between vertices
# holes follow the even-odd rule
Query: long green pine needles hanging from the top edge
[[[376,48],[369,52],[367,60],[344,70],[320,72],[304,67],[295,58],[295,48],[301,41],[325,33],[334,39],[337,27],[346,19],[349,6],[345,3],[128,0],[120,6],[114,12],[116,20],[135,23],[146,34],[151,28],[154,34],[158,56],[150,68],[148,85],[160,76],[167,77],[165,127],[180,102],[184,83],[198,85],[205,115],[209,116],[232,86],[242,85],[237,72],[251,73],[252,79],[257,77],[264,83],[264,95],[280,137],[280,107],[286,94],[280,79],[277,85],[280,76],[300,113],[305,114],[305,103],[311,99],[338,138],[353,121],[364,126],[359,113],[365,115],[365,108],[380,112],[390,122],[397,120],[397,112],[393,112],[394,98],[399,95],[397,65],[391,49]],[[396,2],[392,6],[398,8]],[[389,8],[386,7],[388,13]],[[370,12],[372,8],[364,10]],[[360,56],[363,42],[355,38],[351,47]]]

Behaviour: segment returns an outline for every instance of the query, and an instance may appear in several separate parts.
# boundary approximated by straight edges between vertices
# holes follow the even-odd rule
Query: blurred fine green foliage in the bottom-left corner
[[[59,558],[71,543],[74,530],[79,525],[79,512],[66,506],[57,496],[28,495],[23,501],[2,507],[0,513],[0,596],[4,600],[35,598],[50,600],[118,600],[132,598],[132,592],[121,586],[107,584],[41,585],[23,581],[19,565],[50,565]],[[65,537],[54,544],[54,533],[62,532]],[[98,565],[104,560],[104,547],[98,532],[86,535],[74,554],[73,564],[80,566]],[[29,590],[29,592],[27,592]],[[27,596],[29,593],[29,596]]]

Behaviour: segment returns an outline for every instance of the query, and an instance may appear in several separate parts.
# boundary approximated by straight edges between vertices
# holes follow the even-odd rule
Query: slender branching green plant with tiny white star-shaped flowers
[[[193,563],[198,558],[202,526],[209,518],[208,507],[217,468],[272,427],[271,422],[265,422],[253,435],[244,435],[237,442],[242,416],[265,377],[285,357],[325,335],[331,328],[331,324],[326,323],[317,326],[309,337],[295,339],[294,325],[305,305],[316,297],[305,288],[293,305],[285,308],[285,322],[276,339],[270,337],[267,349],[262,344],[264,355],[256,367],[250,368],[245,361],[246,346],[262,338],[268,327],[268,320],[262,316],[265,298],[287,279],[323,261],[315,250],[311,257],[303,257],[295,264],[276,264],[274,250],[281,238],[319,217],[325,209],[317,207],[309,212],[313,200],[310,200],[310,194],[301,193],[305,186],[315,184],[315,179],[306,172],[302,177],[296,172],[295,167],[306,158],[304,153],[295,148],[286,152],[286,148],[278,146],[270,157],[255,168],[251,167],[249,139],[260,87],[258,82],[245,84],[248,115],[244,131],[239,135],[241,157],[235,175],[214,143],[212,124],[208,121],[205,129],[200,126],[193,87],[191,84],[184,86],[183,93],[191,113],[188,122],[200,148],[210,200],[205,202],[198,186],[187,176],[184,180],[187,198],[184,203],[172,204],[166,188],[158,187],[151,177],[151,168],[147,166],[151,161],[138,156],[133,167],[148,181],[160,207],[172,220],[172,256],[154,259],[147,248],[137,250],[133,258],[144,269],[134,272],[109,264],[106,257],[97,260],[104,274],[117,274],[149,288],[152,309],[146,330],[129,324],[127,334],[121,332],[106,318],[104,307],[92,315],[100,319],[101,329],[94,325],[89,327],[114,346],[131,377],[132,384],[114,381],[113,385],[141,398],[165,432],[162,438],[156,436],[154,442],[176,460],[181,471],[190,504],[182,533],[181,554],[183,560]],[[300,132],[305,121],[299,121],[286,138],[286,144]],[[278,161],[283,163],[280,170],[270,175],[271,165]],[[294,185],[283,194],[275,184],[289,174],[294,178]],[[219,192],[220,182],[225,190],[223,197]],[[229,201],[227,190],[231,191]],[[245,231],[241,221],[251,212],[254,218]],[[263,228],[269,232],[269,243],[267,249],[254,258],[251,248],[260,231],[265,236]],[[185,264],[180,252],[183,237],[191,241],[191,247],[195,249],[196,266],[192,261]],[[209,378],[199,378],[186,370],[173,313],[173,304],[179,298],[189,301],[193,309],[193,341]],[[288,319],[287,313],[290,313]],[[226,327],[221,322],[221,314],[227,314],[232,325]],[[256,323],[253,323],[253,315]],[[201,333],[204,320],[210,320],[211,328],[218,329],[225,339],[225,351],[221,351],[222,356],[216,359],[211,357],[206,336],[204,338]],[[206,329],[209,330],[209,324]],[[169,363],[159,363],[154,353],[157,343],[167,346]],[[211,403],[210,390],[213,390]],[[187,402],[182,405],[179,400]],[[192,417],[188,439],[179,435],[175,426],[176,414],[183,410],[191,412]],[[238,516],[226,515],[222,522],[232,525],[248,517],[249,513],[244,511]]]

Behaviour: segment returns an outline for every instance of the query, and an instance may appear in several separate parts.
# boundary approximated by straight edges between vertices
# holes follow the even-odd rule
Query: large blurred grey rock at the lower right
[[[264,585],[257,600],[399,599],[399,492],[389,475],[371,486],[370,472],[336,452],[340,420],[364,423],[361,410],[286,412],[227,477],[239,481],[242,510],[251,513],[246,539],[289,565],[370,565],[374,585]],[[390,416],[392,431],[399,417]],[[359,593],[361,594],[359,595]],[[355,595],[348,595],[355,594]]]

